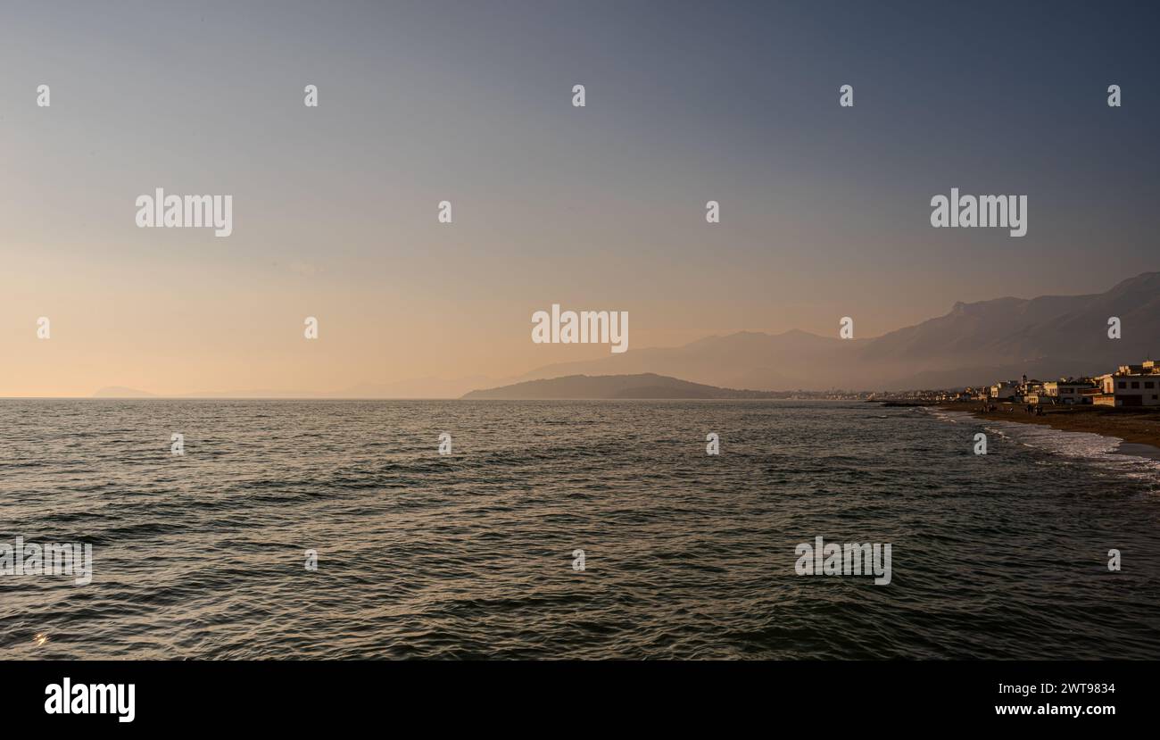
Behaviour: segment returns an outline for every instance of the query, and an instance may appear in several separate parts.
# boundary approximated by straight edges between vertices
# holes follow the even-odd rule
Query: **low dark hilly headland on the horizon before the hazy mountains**
[[[466,400],[589,400],[589,399],[693,399],[693,398],[784,398],[773,391],[735,391],[689,383],[654,372],[639,375],[570,375],[528,380],[495,389],[471,391]]]

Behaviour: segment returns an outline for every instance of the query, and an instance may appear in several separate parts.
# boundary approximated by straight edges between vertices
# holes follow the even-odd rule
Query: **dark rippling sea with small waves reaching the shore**
[[[0,547],[93,560],[0,574],[0,658],[1155,660],[1160,463],[1117,444],[855,401],[2,400]],[[890,544],[890,582],[799,574],[817,537]]]

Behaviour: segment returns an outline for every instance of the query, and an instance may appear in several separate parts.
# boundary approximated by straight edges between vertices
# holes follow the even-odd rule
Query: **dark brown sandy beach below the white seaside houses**
[[[1021,404],[998,404],[981,411],[981,401],[940,404],[950,411],[967,411],[979,419],[1044,425],[1064,431],[1088,431],[1124,441],[1117,452],[1160,459],[1160,408],[1112,408],[1110,406],[1044,407],[1043,415],[1029,414]]]

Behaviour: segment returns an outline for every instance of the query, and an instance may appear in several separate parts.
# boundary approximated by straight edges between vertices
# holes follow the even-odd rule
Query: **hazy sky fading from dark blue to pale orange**
[[[609,354],[534,344],[552,303],[628,311],[631,351],[1107,290],[1160,269],[1154,7],[6,3],[0,396]],[[232,195],[233,234],[138,228],[158,187]],[[951,187],[1025,194],[1028,234],[931,228]]]

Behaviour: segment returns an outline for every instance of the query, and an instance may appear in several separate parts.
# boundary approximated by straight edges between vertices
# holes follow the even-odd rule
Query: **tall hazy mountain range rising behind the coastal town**
[[[1108,319],[1122,339],[1108,339]],[[857,317],[854,317],[855,321]],[[1110,372],[1160,353],[1160,273],[1089,296],[956,303],[945,315],[875,339],[791,331],[738,332],[676,348],[631,349],[590,362],[546,365],[535,380],[653,372],[724,387],[912,390]]]

